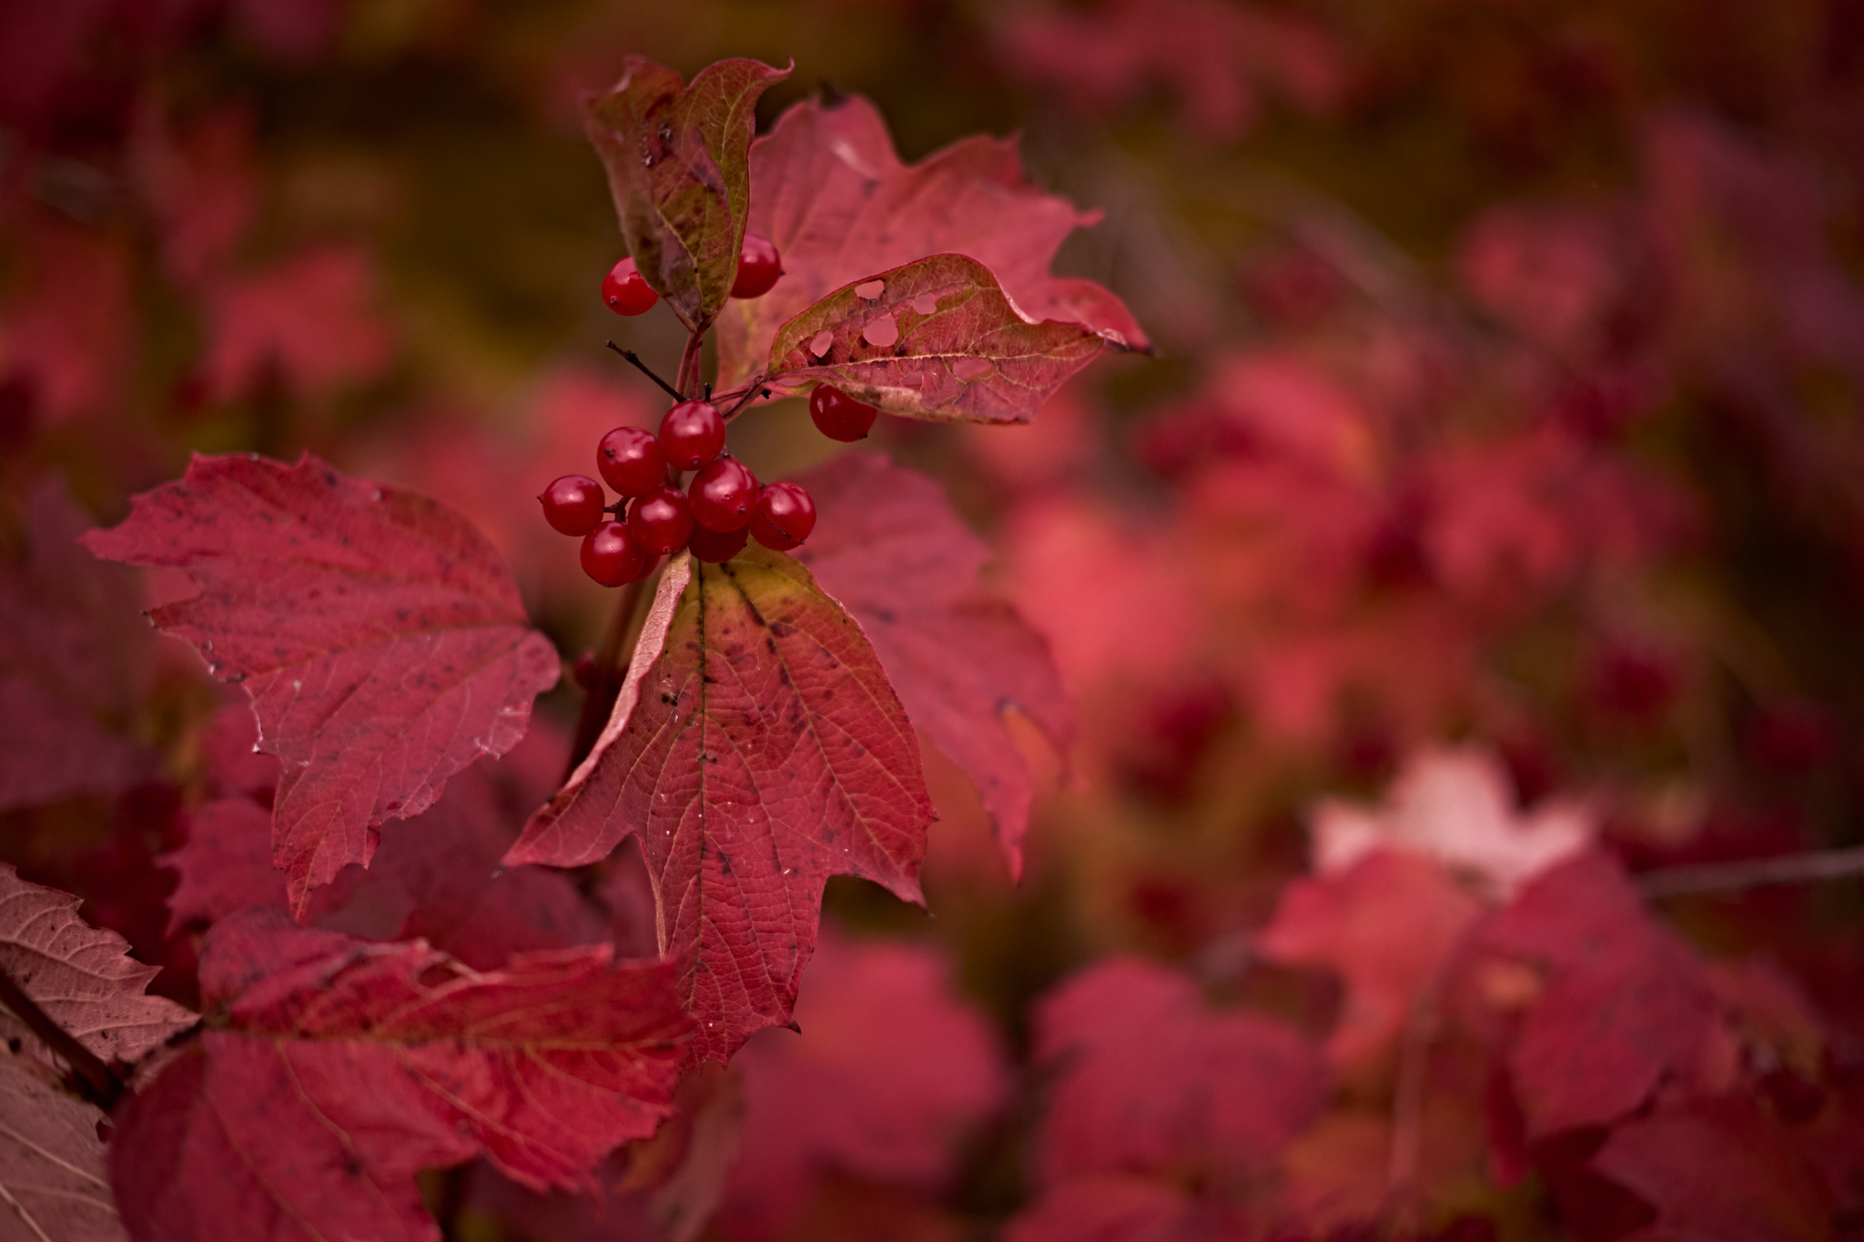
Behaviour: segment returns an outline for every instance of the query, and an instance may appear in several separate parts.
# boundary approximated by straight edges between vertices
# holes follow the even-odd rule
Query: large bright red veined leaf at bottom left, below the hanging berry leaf
[[[121,1110],[110,1181],[138,1238],[438,1238],[414,1173],[475,1154],[533,1188],[671,1112],[690,1028],[664,963],[606,944],[479,974],[244,911],[201,950],[224,1024]]]

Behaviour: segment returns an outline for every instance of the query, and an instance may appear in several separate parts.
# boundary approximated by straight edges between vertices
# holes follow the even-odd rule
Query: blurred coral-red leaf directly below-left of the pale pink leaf
[[[1435,858],[1379,847],[1344,871],[1288,884],[1258,946],[1271,961],[1340,976],[1346,1000],[1327,1056],[1353,1065],[1391,1048],[1480,914]]]

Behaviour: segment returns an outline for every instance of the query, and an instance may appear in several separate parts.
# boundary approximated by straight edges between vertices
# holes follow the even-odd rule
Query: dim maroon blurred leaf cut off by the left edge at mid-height
[[[149,685],[136,585],[76,546],[93,523],[60,479],[22,508],[26,562],[0,564],[0,808],[119,793],[157,775],[125,736]]]

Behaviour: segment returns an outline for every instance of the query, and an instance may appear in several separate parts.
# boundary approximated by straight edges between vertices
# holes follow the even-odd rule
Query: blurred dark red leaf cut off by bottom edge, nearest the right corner
[[[1748,1097],[1700,1099],[1616,1127],[1594,1168],[1657,1210],[1638,1242],[1816,1242],[1832,1195],[1795,1134]]]

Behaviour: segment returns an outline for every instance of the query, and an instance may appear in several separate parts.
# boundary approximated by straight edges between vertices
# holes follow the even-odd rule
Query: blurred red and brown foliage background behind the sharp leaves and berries
[[[134,616],[175,583],[71,547],[190,451],[434,495],[598,642],[533,497],[660,415],[602,341],[680,346],[596,300],[628,52],[794,58],[766,125],[861,93],[908,160],[1020,132],[1156,356],[874,436],[1077,700],[1021,881],[928,749],[934,918],[833,881],[800,1037],[606,1216],[473,1168],[449,1236],[1864,1233],[1864,892],[1745,883],[1864,836],[1858,0],[13,0],[0,860],[194,998],[158,858],[270,776]],[[591,935],[651,952],[628,883]]]

